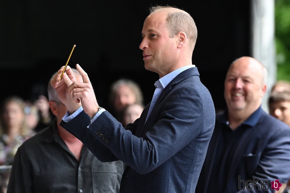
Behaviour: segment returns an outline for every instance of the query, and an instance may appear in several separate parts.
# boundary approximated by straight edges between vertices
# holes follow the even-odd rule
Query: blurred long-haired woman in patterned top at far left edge
[[[5,192],[14,155],[18,147],[33,134],[26,127],[25,102],[20,97],[9,97],[2,103],[0,131],[0,186]]]

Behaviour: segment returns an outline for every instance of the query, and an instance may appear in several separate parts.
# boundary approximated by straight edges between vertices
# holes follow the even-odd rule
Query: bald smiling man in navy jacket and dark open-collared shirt
[[[289,179],[290,129],[262,110],[266,82],[267,69],[254,58],[229,67],[227,110],[216,117],[197,193],[273,192]]]

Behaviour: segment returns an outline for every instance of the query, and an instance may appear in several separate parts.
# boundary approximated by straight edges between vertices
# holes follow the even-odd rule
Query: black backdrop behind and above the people
[[[1,1],[1,100],[10,95],[33,99],[51,75],[80,64],[99,103],[108,105],[109,86],[119,78],[136,81],[145,105],[158,74],[144,69],[141,30],[150,5],[175,5],[194,18],[198,38],[193,64],[210,90],[215,107],[225,108],[223,81],[230,63],[250,55],[250,3],[245,1]],[[33,91],[34,90],[34,91]]]

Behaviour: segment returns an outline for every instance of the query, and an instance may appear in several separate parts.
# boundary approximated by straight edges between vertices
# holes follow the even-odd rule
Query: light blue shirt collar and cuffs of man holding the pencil
[[[179,69],[176,69],[174,70],[173,72],[170,72],[169,74],[166,74],[164,77],[160,78],[159,80],[157,80],[155,82],[155,91],[154,91],[154,95],[153,95],[153,98],[152,98],[152,101],[151,101],[151,104],[150,104],[150,107],[149,107],[149,111],[148,111],[148,114],[147,114],[147,117],[146,117],[146,121],[156,103],[156,101],[158,100],[160,94],[162,93],[162,91],[164,90],[164,88],[169,84],[169,82],[171,82],[178,74],[180,74],[181,72],[183,72],[184,70],[187,70],[189,68],[193,68],[195,67],[195,65],[187,65],[187,66],[184,66],[184,67],[181,67]],[[72,120],[73,118],[75,118],[76,116],[78,116],[78,114],[80,114],[80,112],[83,111],[83,107],[80,106],[80,108],[75,111],[74,113],[72,113],[70,115],[70,113],[67,111],[67,113],[65,114],[65,116],[62,118],[62,120],[67,123],[68,121]],[[104,108],[102,108],[95,116],[94,118],[92,119],[91,121],[91,124],[100,116],[100,114],[102,114],[102,112],[106,111]],[[145,122],[146,122],[145,121]],[[89,128],[89,126],[91,125],[89,124],[87,127]]]

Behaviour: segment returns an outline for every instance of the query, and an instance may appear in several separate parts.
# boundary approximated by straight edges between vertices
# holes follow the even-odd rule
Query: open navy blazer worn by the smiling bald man
[[[222,129],[224,128],[218,121],[217,116],[215,130],[212,134],[210,144],[208,146],[207,155],[204,166],[199,177],[196,187],[197,193],[208,192],[210,175],[213,170],[213,158],[217,152],[219,140],[221,138]],[[224,172],[224,171],[219,171]],[[271,181],[278,179],[281,183],[287,183],[290,177],[290,128],[283,122],[275,119],[260,109],[260,118],[257,123],[245,131],[241,136],[241,140],[236,146],[233,153],[232,162],[228,165],[228,178],[224,192],[273,192],[271,189]],[[262,186],[249,186],[247,190],[239,190],[240,180],[251,180],[253,176],[255,180],[262,183],[270,184],[268,190],[263,190]],[[244,182],[240,182],[241,188],[244,188]],[[217,192],[218,193],[218,192]]]

